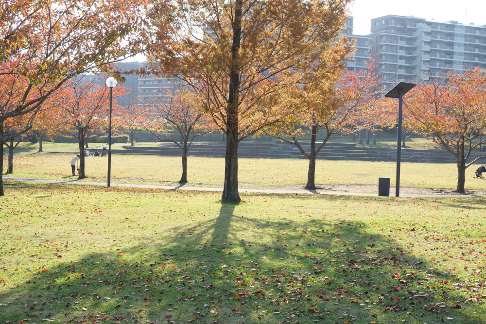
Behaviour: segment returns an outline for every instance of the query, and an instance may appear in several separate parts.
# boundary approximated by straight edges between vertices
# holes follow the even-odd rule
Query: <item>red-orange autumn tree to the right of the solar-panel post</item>
[[[457,161],[457,188],[464,193],[466,169],[480,156],[469,160],[471,153],[486,143],[486,71],[476,68],[464,73],[447,72],[430,77],[407,95],[404,125],[433,139]],[[396,103],[395,103],[396,106]]]

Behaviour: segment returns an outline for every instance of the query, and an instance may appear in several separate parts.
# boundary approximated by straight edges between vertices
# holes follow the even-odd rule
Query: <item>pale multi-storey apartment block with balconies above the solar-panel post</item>
[[[383,87],[486,67],[486,26],[388,15],[371,19],[368,36]]]

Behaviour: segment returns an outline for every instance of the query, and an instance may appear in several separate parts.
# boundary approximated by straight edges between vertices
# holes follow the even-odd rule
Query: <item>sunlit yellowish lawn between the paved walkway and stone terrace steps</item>
[[[14,158],[14,177],[39,179],[76,179],[70,176],[70,154],[19,153]],[[6,159],[4,160],[6,170]],[[107,159],[86,158],[87,181],[106,181]],[[307,159],[240,158],[240,188],[282,188],[303,186],[307,180]],[[223,187],[224,158],[188,158],[186,186]],[[466,188],[483,189],[486,182],[473,179],[477,167],[466,171]],[[156,155],[113,155],[112,182],[178,185],[181,158]],[[317,160],[316,184],[377,185],[379,177],[390,177],[394,185],[393,162]],[[455,189],[457,168],[454,164],[402,163],[401,186]]]

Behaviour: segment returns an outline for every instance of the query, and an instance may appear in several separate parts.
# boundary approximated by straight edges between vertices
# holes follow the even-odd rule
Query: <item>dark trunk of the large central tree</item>
[[[241,201],[238,192],[238,104],[240,88],[240,67],[238,66],[238,52],[242,37],[242,8],[243,0],[234,2],[233,40],[231,46],[232,63],[229,76],[228,107],[226,109],[226,157],[225,157],[225,185],[223,201]]]

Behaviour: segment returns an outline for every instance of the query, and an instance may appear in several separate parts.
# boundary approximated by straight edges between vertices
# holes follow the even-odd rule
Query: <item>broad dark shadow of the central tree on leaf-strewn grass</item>
[[[223,203],[216,220],[194,215],[196,222],[171,233],[154,228],[127,248],[86,251],[71,260],[61,246],[64,252],[49,256],[57,261],[49,269],[34,270],[41,257],[31,256],[33,273],[23,282],[8,282],[10,270],[2,274],[0,280],[13,288],[0,295],[6,305],[0,306],[0,322],[485,320],[482,305],[464,304],[470,294],[480,296],[482,277],[465,296],[452,286],[458,283],[454,275],[397,241],[369,234],[363,222],[326,216],[274,221],[238,215],[240,205]]]

